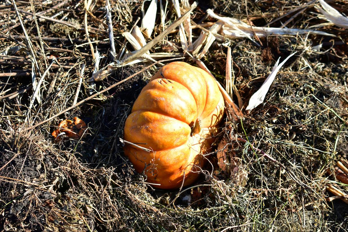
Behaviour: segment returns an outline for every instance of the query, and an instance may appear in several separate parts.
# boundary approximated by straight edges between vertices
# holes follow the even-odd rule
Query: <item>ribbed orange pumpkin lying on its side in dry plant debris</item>
[[[169,63],[134,102],[124,138],[138,147],[125,144],[125,154],[155,187],[192,184],[212,152],[223,113],[224,99],[211,75],[185,62]]]

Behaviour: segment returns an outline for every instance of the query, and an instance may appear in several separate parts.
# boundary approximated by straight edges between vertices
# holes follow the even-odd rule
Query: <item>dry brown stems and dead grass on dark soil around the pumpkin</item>
[[[193,41],[217,21],[208,9],[255,30],[324,34],[254,32],[233,39],[209,32],[216,40],[198,57],[182,49],[177,27],[147,53],[158,57],[115,62],[107,77],[94,81],[93,73],[139,50],[125,32],[141,27],[150,2],[157,1],[0,4],[0,231],[347,231],[346,197],[326,187],[348,193],[332,175],[348,154],[348,30],[325,20],[316,1],[201,1],[191,9]],[[179,18],[173,2],[157,3],[147,43]],[[327,3],[348,15],[346,0]],[[109,9],[111,18],[105,17]],[[243,117],[224,117],[210,165],[196,184],[151,187],[119,139],[161,63],[148,66],[173,58],[200,61],[224,86],[228,47],[237,90],[231,97]],[[246,111],[277,59],[294,51],[263,103]],[[85,135],[55,139],[58,124],[74,117],[88,126]],[[237,168],[222,166],[217,154]]]

